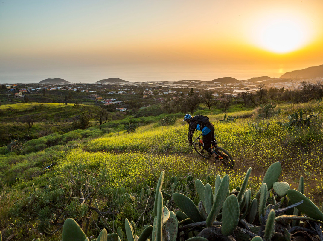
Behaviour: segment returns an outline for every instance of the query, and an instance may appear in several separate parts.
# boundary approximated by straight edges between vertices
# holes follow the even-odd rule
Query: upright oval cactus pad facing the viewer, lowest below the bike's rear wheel
[[[225,236],[233,233],[239,222],[239,202],[235,195],[230,195],[225,199],[222,208],[222,228],[221,232]]]

